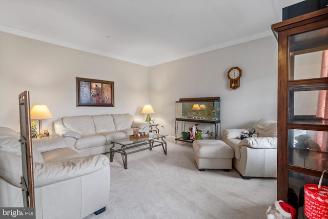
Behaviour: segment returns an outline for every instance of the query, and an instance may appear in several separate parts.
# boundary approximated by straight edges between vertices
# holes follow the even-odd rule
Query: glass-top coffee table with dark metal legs
[[[156,134],[143,140],[130,140],[130,137],[118,138],[111,140],[113,147],[110,149],[110,162],[113,162],[115,152],[122,156],[124,168],[128,169],[128,154],[143,150],[152,150],[154,147],[162,146],[164,154],[167,154],[167,143],[164,138],[167,135]],[[148,145],[147,147],[141,147]],[[141,147],[141,148],[140,148]],[[133,148],[136,148],[133,150]],[[131,149],[131,150],[130,150]],[[129,151],[128,151],[129,150]]]

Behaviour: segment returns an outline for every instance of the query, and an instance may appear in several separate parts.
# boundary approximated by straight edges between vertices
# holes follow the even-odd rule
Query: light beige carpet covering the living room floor
[[[109,154],[108,154],[109,156]],[[233,169],[197,169],[193,148],[168,138],[161,147],[128,155],[124,169],[120,154],[111,165],[106,211],[91,218],[233,218],[263,219],[276,201],[276,179],[243,180]]]

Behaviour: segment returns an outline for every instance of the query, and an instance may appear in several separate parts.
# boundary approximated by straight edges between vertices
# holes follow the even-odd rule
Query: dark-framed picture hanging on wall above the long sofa
[[[114,82],[76,77],[76,107],[114,107]]]

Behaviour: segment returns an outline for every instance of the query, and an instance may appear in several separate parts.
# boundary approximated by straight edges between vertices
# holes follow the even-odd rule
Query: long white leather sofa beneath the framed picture
[[[55,133],[82,155],[109,152],[110,140],[132,135],[133,128],[149,133],[149,123],[134,121],[129,113],[66,116],[54,121]]]

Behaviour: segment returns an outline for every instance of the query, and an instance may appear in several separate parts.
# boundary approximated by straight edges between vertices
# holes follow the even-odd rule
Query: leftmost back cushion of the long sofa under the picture
[[[91,115],[78,115],[63,117],[63,124],[66,128],[79,134],[95,134],[93,119]]]

